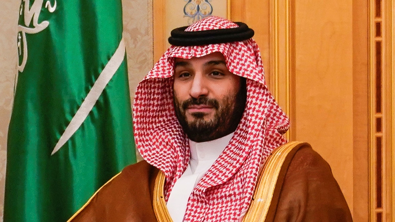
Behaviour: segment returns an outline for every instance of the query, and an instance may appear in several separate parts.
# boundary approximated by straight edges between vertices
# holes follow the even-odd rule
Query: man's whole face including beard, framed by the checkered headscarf
[[[174,106],[188,137],[210,141],[235,131],[245,108],[245,79],[229,72],[224,56],[175,58]]]

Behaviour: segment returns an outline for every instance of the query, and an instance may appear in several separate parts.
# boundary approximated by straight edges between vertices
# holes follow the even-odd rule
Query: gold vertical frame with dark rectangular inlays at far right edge
[[[393,221],[394,4],[371,0],[369,7],[369,217]]]

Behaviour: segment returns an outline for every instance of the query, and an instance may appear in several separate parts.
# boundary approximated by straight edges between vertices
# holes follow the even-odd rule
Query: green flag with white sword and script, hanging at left
[[[5,222],[64,222],[135,162],[121,0],[22,0]]]

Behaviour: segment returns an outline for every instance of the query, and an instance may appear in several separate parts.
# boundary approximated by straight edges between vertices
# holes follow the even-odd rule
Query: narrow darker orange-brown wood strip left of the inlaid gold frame
[[[353,0],[353,210],[354,221],[369,218],[369,43],[368,0]]]

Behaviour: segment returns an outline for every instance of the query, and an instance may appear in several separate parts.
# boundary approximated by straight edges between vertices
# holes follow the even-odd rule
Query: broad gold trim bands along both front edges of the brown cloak
[[[296,151],[310,144],[305,142],[289,142],[276,148],[263,166],[258,177],[254,195],[243,222],[271,222],[276,212],[278,197],[288,166]],[[153,207],[158,222],[173,222],[167,211],[164,199],[165,175],[158,172],[155,179]]]

